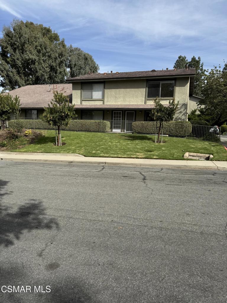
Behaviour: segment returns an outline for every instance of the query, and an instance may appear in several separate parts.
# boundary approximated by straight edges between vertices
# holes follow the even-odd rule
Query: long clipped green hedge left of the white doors
[[[38,119],[21,119],[23,128],[29,129],[55,129],[42,120]],[[9,128],[13,128],[16,120],[9,121]],[[76,132],[109,132],[110,122],[103,120],[72,120],[67,127],[62,127],[62,130],[76,131]]]

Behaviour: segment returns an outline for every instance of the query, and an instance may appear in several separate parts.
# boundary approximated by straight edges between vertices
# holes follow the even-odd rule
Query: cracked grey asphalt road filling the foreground
[[[227,301],[227,171],[0,161],[0,179],[0,286],[31,286],[0,302]]]

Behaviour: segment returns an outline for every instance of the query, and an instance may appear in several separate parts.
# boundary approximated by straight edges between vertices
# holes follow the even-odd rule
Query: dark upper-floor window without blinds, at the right
[[[148,82],[147,98],[173,98],[174,81]]]

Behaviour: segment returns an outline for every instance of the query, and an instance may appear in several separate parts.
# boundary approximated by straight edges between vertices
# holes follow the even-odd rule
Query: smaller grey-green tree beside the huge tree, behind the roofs
[[[70,78],[86,75],[89,71],[91,73],[97,73],[99,71],[98,64],[90,54],[72,45],[68,46],[67,68],[69,68]]]

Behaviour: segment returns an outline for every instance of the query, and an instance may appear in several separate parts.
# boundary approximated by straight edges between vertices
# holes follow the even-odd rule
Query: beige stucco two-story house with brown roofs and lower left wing
[[[199,98],[193,96],[195,68],[143,72],[95,73],[67,79],[65,84],[27,85],[9,93],[21,100],[21,116],[39,118],[58,90],[68,95],[78,119],[150,121],[154,99],[163,105],[179,101],[174,120],[186,121]]]

